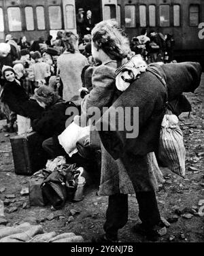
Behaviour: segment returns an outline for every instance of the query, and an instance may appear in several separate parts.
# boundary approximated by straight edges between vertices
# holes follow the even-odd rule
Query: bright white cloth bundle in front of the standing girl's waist
[[[85,135],[89,135],[90,127],[80,127],[72,122],[66,129],[58,135],[58,141],[65,149],[69,157],[72,157],[73,154],[78,152],[76,143],[80,138],[83,138]]]

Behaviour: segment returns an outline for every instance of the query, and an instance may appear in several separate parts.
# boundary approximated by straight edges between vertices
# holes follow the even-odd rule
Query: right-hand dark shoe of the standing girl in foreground
[[[135,226],[133,226],[133,232],[141,236],[146,236],[146,239],[152,242],[156,242],[159,238],[156,229],[144,227],[142,223],[137,223]]]

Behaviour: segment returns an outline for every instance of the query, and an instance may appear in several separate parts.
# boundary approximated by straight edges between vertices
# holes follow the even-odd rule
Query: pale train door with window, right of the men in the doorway
[[[103,20],[118,20],[117,0],[101,0]]]

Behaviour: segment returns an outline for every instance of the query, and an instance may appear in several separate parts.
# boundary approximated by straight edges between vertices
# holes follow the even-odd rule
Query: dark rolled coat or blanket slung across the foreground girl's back
[[[148,153],[155,152],[158,148],[167,92],[169,100],[175,99],[183,92],[194,92],[201,80],[201,65],[199,63],[165,64],[160,67],[160,74],[167,82],[167,90],[163,82],[150,71],[146,71],[116,99],[99,120],[99,124],[106,123],[106,127],[107,125],[112,127],[114,120],[108,116],[111,116],[115,109],[139,108],[137,138],[126,138],[129,133],[127,129],[99,131],[103,146],[114,159],[122,162],[137,191],[148,191],[152,187],[146,162],[143,160]],[[133,123],[133,115],[129,116],[129,121]]]

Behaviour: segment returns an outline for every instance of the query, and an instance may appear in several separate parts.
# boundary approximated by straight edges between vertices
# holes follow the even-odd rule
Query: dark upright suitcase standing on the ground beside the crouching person
[[[44,138],[35,131],[10,138],[16,174],[32,175],[46,166],[43,141]]]

